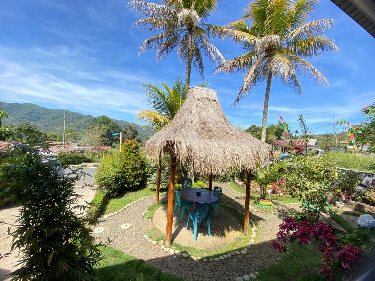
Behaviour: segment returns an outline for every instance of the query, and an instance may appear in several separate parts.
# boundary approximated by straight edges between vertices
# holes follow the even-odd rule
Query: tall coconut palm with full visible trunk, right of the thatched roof
[[[267,81],[262,141],[266,141],[272,80],[281,79],[284,85],[291,87],[300,96],[303,93],[297,73],[314,79],[315,84],[328,85],[323,74],[306,61],[323,52],[338,50],[335,41],[324,35],[333,26],[333,19],[306,22],[318,3],[319,0],[253,0],[241,20],[216,30],[222,37],[241,43],[246,52],[220,64],[214,71],[233,73],[246,70],[234,105],[248,96],[260,82]]]

